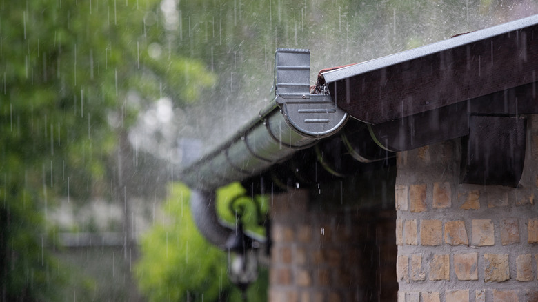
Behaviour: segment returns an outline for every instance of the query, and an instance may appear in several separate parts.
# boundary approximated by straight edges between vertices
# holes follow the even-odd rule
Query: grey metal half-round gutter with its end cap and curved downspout
[[[275,99],[231,139],[180,172],[181,181],[192,189],[191,211],[203,236],[226,249],[235,233],[235,228],[219,221],[217,188],[260,174],[310,148],[337,133],[347,119],[328,94],[310,94],[310,51],[279,48]]]

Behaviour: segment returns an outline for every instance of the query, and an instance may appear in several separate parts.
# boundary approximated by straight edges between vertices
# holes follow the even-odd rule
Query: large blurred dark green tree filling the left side
[[[47,208],[114,196],[117,137],[146,103],[194,102],[214,77],[168,51],[160,0],[0,6],[0,290],[54,299],[65,284]],[[181,90],[177,83],[197,81]],[[43,217],[44,215],[44,217]],[[45,219],[43,219],[45,218]]]

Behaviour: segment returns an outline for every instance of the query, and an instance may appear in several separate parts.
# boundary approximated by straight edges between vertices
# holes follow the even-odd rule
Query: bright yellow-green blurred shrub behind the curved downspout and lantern
[[[219,190],[217,204],[231,201],[243,190],[237,184]],[[238,290],[228,281],[227,253],[210,245],[192,221],[190,190],[175,183],[169,191],[163,223],[155,224],[141,242],[143,256],[135,269],[140,290],[149,301],[240,301]],[[250,286],[250,301],[266,301],[266,286],[265,272]]]

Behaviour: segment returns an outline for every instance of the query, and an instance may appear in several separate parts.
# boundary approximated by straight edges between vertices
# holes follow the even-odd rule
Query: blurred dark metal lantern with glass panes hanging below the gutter
[[[228,248],[228,277],[243,292],[245,299],[248,285],[258,277],[258,259],[256,249],[252,246],[252,239],[245,236],[242,224],[239,224],[235,234],[230,236],[226,248]]]

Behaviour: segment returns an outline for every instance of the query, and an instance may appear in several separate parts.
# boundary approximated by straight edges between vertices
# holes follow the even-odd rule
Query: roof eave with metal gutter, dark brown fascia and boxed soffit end
[[[281,59],[286,62],[282,66],[277,52],[275,100],[235,136],[181,171],[192,188],[211,191],[252,179],[298,150],[349,133],[350,128],[366,129],[368,137],[364,131],[359,135],[366,150],[372,150],[371,145],[384,149],[375,150],[377,155],[368,161],[463,137],[470,147],[462,152],[462,181],[519,182],[526,149],[521,139],[524,114],[538,113],[538,16],[321,72],[314,90],[321,95],[308,92],[309,59],[300,57],[306,51],[280,51],[299,59]],[[298,125],[290,119],[301,115],[297,112],[339,112],[339,118],[330,121],[327,131],[309,132],[302,127],[328,121],[317,116]],[[356,121],[350,123],[348,115]],[[495,127],[484,127],[490,124]],[[499,136],[506,139],[499,141]],[[492,152],[498,156],[490,157]],[[488,174],[492,170],[495,177]]]

